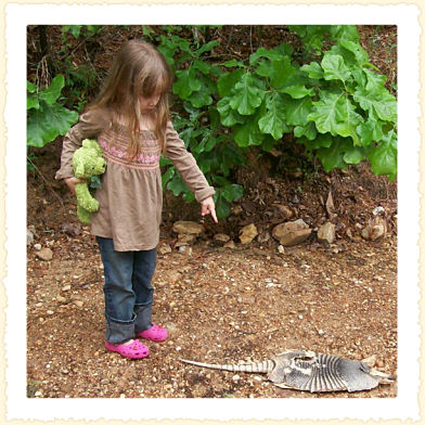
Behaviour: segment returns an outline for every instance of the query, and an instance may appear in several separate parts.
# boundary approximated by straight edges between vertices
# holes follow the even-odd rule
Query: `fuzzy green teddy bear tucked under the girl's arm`
[[[102,156],[102,147],[95,140],[85,139],[82,146],[77,149],[73,156],[75,177],[86,180],[86,182],[77,183],[75,186],[77,216],[85,224],[91,222],[91,212],[99,209],[99,202],[91,195],[88,181],[93,176],[103,175],[105,166],[106,162]]]

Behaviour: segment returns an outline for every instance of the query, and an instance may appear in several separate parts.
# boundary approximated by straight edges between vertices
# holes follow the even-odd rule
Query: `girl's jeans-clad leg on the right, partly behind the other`
[[[155,267],[156,248],[134,253],[132,289],[136,294],[136,334],[152,326],[152,302],[154,288],[151,282],[154,276]]]

